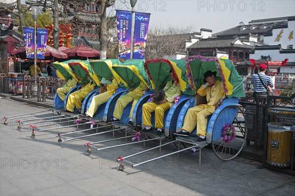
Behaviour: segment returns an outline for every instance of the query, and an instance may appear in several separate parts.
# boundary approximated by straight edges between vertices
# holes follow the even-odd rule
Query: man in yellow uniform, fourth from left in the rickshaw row
[[[114,118],[111,119],[109,122],[119,122],[123,113],[124,108],[131,103],[132,101],[132,107],[130,110],[130,114],[129,114],[129,122],[127,123],[129,126],[133,126],[133,119],[132,119],[132,114],[133,114],[133,110],[135,108],[135,105],[137,103],[137,101],[143,97],[143,95],[145,95],[145,93],[147,92],[148,87],[147,85],[145,85],[144,82],[140,82],[139,86],[134,89],[133,91],[127,93],[126,95],[118,98],[118,101],[116,103],[115,106],[115,110],[113,113]]]

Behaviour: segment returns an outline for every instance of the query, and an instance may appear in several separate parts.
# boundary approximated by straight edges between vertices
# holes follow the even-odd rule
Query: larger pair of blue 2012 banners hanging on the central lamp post
[[[117,11],[119,59],[130,59],[132,12]],[[133,59],[144,59],[148,34],[149,13],[135,13]]]

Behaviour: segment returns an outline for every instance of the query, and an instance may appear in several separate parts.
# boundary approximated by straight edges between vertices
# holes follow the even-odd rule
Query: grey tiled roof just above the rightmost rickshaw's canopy
[[[238,48],[248,48],[252,49],[252,46],[246,44],[235,44],[235,41],[238,38],[236,37],[224,37],[224,38],[208,38],[201,39],[197,41],[193,45],[188,48],[230,48],[230,47],[238,47]]]

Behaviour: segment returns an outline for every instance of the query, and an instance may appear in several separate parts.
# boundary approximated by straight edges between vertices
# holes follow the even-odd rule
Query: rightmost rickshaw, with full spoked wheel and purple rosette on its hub
[[[244,109],[238,104],[238,98],[245,97],[242,77],[237,73],[231,60],[195,56],[187,58],[186,62],[187,78],[192,90],[195,92],[197,91],[197,89],[203,84],[203,74],[207,70],[211,70],[217,71],[216,76],[222,81],[223,88],[226,92],[227,98],[215,110],[215,112],[208,117],[207,141],[203,143],[196,143],[195,137],[191,137],[196,135],[195,130],[189,137],[177,136],[175,138],[175,142],[178,143],[178,150],[176,152],[137,164],[128,162],[126,159],[138,155],[139,153],[127,157],[119,157],[117,161],[131,163],[134,167],[176,153],[179,155],[179,152],[185,150],[196,149],[199,150],[199,163],[201,163],[201,149],[209,144],[211,144],[214,154],[219,159],[224,161],[232,160],[240,153],[246,142],[247,136]],[[202,97],[197,96],[196,102],[202,103],[202,99]],[[184,116],[187,110],[195,105],[194,102],[195,101],[188,99],[182,106],[177,117],[177,131],[181,131]],[[184,149],[180,150],[181,143],[185,145]]]

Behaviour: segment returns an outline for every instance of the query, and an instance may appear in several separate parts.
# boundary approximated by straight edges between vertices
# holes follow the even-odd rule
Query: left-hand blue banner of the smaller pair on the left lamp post
[[[34,58],[34,28],[24,27],[26,57]]]

